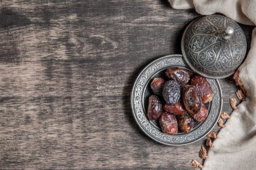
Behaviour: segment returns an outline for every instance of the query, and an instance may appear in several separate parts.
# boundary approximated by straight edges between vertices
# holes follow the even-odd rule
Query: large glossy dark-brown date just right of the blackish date
[[[197,113],[201,108],[201,96],[198,87],[194,85],[186,85],[183,88],[183,102],[186,110],[190,114]]]

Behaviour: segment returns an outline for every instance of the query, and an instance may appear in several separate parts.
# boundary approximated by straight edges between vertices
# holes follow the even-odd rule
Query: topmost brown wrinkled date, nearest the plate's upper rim
[[[183,69],[167,69],[166,70],[166,77],[169,80],[175,80],[181,86],[187,84],[189,82],[189,73]]]

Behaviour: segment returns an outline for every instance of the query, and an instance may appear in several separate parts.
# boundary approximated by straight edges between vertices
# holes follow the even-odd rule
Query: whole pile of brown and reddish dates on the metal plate
[[[212,101],[212,88],[206,78],[180,68],[166,70],[166,78],[154,78],[149,97],[148,118],[159,120],[163,133],[176,134],[178,130],[189,133],[195,121],[208,116],[205,104]]]

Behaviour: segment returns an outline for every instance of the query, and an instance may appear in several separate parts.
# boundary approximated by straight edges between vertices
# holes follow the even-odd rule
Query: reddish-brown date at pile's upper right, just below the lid
[[[191,84],[198,87],[203,103],[212,101],[212,87],[206,78],[201,77],[200,75],[195,75],[191,79]]]

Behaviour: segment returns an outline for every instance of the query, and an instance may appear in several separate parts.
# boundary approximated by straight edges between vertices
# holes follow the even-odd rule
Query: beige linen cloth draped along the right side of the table
[[[222,13],[233,20],[256,25],[256,0],[169,0],[174,9],[195,8],[203,15]],[[239,78],[247,98],[233,111],[208,152],[203,170],[256,170],[256,28]],[[224,108],[225,109],[225,108]]]

